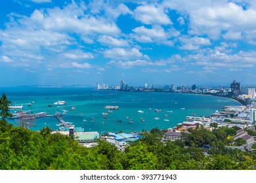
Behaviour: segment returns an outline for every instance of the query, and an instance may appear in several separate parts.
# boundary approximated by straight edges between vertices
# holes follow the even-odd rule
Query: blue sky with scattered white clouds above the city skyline
[[[0,23],[0,86],[256,80],[254,0],[7,0]]]

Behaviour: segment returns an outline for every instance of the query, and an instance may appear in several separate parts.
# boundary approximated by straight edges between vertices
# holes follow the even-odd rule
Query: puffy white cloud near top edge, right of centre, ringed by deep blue
[[[144,5],[137,7],[134,10],[134,17],[135,20],[139,20],[143,24],[173,24],[167,14],[165,14],[164,9],[154,5]]]

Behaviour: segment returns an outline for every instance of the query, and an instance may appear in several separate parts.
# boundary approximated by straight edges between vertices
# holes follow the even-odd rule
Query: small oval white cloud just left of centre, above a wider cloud
[[[106,45],[106,46],[114,46],[114,47],[126,47],[129,46],[128,41],[124,39],[116,39],[107,35],[102,35],[98,37],[98,42],[100,44]]]

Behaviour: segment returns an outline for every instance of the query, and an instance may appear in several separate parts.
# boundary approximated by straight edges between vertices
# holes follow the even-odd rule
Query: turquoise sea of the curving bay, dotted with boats
[[[85,131],[98,131],[98,133],[119,132],[120,130],[131,133],[142,131],[142,129],[149,131],[154,127],[165,129],[184,122],[186,116],[191,116],[191,114],[210,116],[215,110],[220,110],[225,105],[240,105],[232,99],[212,95],[120,92],[89,88],[0,88],[0,94],[2,93],[5,93],[12,101],[11,105],[22,104],[23,110],[32,110],[33,113],[66,112],[66,116],[62,116],[65,122],[72,122],[75,127],[83,127]],[[54,105],[56,101],[66,101],[66,105]],[[28,107],[28,103],[32,106]],[[48,105],[53,105],[53,107],[48,107]],[[119,106],[119,110],[112,110],[108,118],[104,119],[102,112],[108,112],[104,109],[106,105]],[[72,107],[76,109],[71,110]],[[161,112],[155,112],[156,108]],[[138,110],[144,113],[139,113]],[[173,112],[167,113],[166,111]],[[156,117],[160,120],[154,120]],[[144,118],[145,121],[141,122],[140,118]],[[128,123],[131,119],[133,124]],[[118,122],[119,120],[121,122]],[[9,120],[9,122],[18,125],[18,120]],[[37,118],[30,129],[40,130],[48,125],[56,130],[58,129],[56,124],[59,122],[53,117]]]

